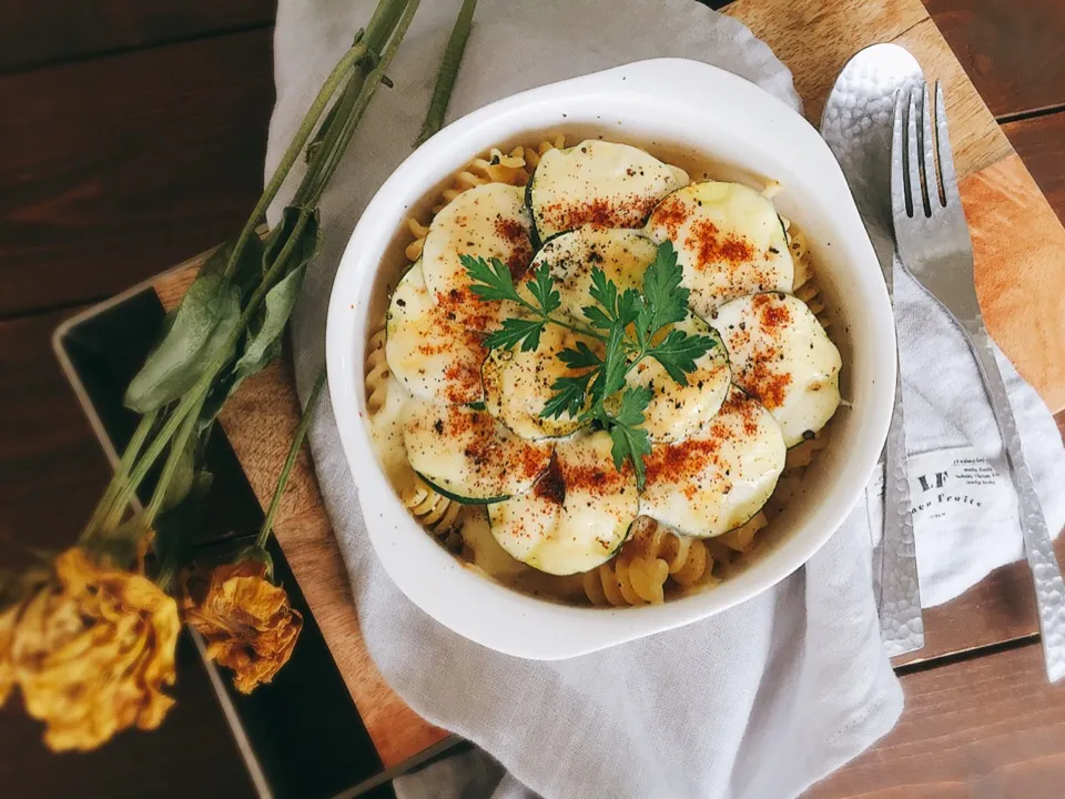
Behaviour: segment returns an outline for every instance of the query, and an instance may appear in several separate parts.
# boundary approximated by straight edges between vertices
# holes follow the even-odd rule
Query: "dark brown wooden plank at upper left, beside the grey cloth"
[[[271,41],[0,77],[0,316],[114,294],[240,229],[262,191]]]

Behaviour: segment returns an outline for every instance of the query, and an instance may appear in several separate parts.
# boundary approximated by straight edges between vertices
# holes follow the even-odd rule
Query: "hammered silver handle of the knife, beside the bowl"
[[[896,370],[896,374],[894,411],[884,447],[884,535],[880,575],[880,634],[889,657],[924,646],[913,515],[910,513],[902,372]]]

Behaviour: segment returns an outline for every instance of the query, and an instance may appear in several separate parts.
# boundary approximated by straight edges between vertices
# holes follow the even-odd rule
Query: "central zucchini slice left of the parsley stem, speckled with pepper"
[[[581,423],[564,413],[557,418],[541,416],[544,406],[555,392],[551,386],[560,377],[579,374],[564,364],[558,353],[574,347],[580,338],[592,350],[601,345],[585,340],[565,327],[547,325],[540,344],[532,352],[520,348],[495,350],[481,367],[485,408],[523,438],[551,438],[574,433]]]

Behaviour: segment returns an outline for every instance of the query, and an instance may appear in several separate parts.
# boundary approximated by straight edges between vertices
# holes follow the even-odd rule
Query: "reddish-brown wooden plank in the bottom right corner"
[[[875,747],[808,799],[1054,799],[1065,773],[1065,686],[1038,645],[902,677],[906,708]]]

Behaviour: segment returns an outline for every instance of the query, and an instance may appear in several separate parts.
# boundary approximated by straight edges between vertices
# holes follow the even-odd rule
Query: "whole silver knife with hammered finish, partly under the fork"
[[[855,54],[836,78],[821,117],[821,135],[854,195],[865,232],[884,273],[894,283],[891,211],[891,140],[895,95],[923,85],[921,65],[897,44],[874,44]],[[874,553],[873,580],[884,648],[890,657],[924,646],[921,590],[910,514],[910,474],[902,411],[902,372],[895,381],[894,413],[881,456],[884,469],[884,530]]]

